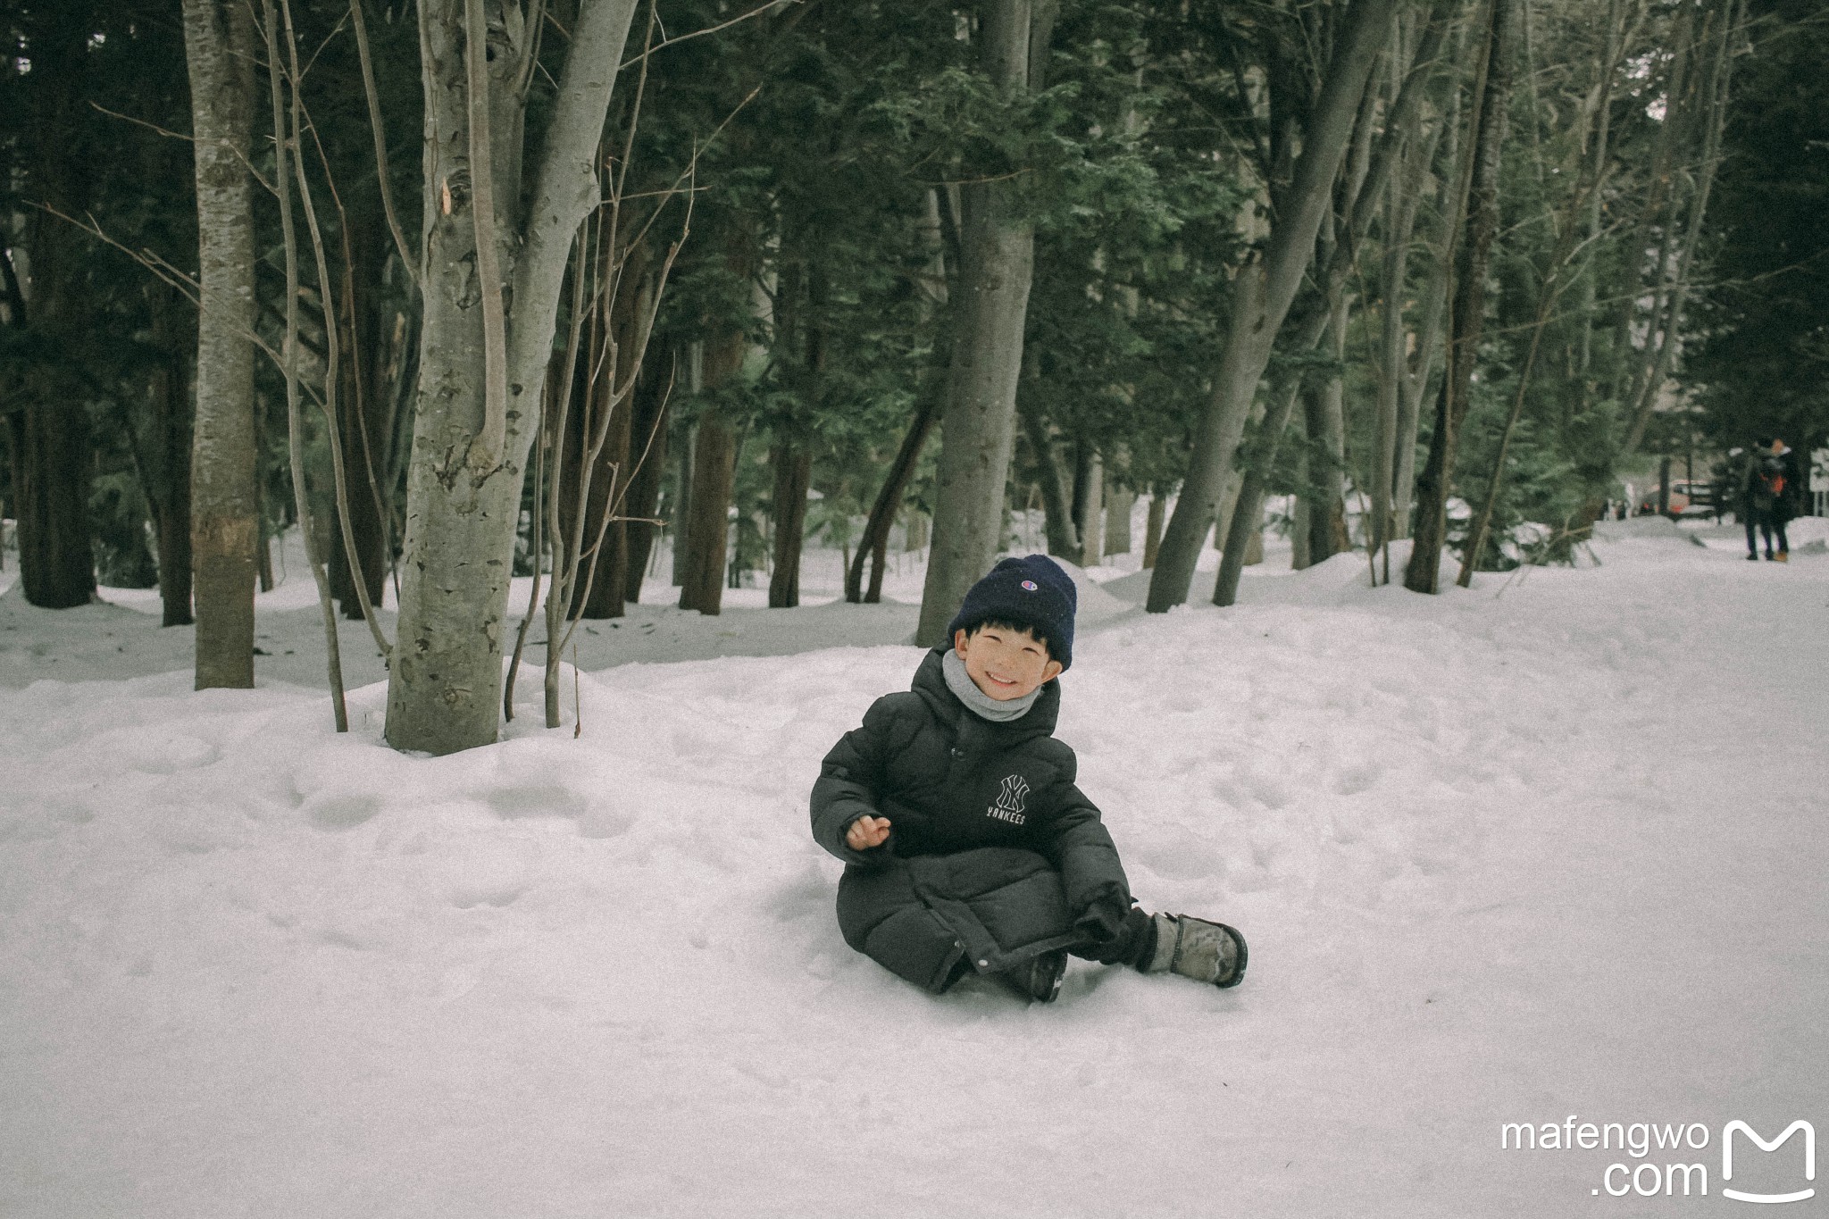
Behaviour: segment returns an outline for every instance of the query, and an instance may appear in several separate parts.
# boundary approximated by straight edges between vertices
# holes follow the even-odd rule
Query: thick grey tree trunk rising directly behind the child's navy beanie
[[[1055,13],[1057,0],[986,0],[980,60],[997,88],[1021,95],[1043,86]],[[966,590],[1002,550],[1022,325],[1035,270],[1035,230],[1021,219],[1013,185],[977,181],[958,194],[953,366],[940,420],[933,548],[914,631],[925,647],[942,640]]]

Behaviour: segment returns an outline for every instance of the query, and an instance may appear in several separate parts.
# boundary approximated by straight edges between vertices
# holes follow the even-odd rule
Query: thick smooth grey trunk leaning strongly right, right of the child
[[[1291,186],[1280,199],[1269,243],[1233,280],[1233,318],[1213,378],[1213,397],[1196,422],[1187,477],[1150,578],[1145,609],[1154,614],[1187,599],[1200,543],[1225,492],[1233,455],[1244,437],[1258,380],[1269,366],[1277,333],[1313,260],[1315,238],[1332,207],[1333,179],[1379,49],[1390,40],[1396,13],[1397,0],[1353,2],[1328,62],[1321,97],[1302,132],[1302,152]]]

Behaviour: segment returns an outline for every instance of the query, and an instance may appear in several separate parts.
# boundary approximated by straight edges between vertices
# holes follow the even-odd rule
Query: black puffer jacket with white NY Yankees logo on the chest
[[[993,724],[947,689],[944,654],[927,654],[909,693],[876,700],[812,788],[814,839],[850,864],[845,943],[936,992],[964,969],[1099,941],[1130,908],[1118,848],[1074,786],[1074,751],[1052,737],[1061,684]],[[858,852],[845,830],[863,815],[887,817],[891,835]]]

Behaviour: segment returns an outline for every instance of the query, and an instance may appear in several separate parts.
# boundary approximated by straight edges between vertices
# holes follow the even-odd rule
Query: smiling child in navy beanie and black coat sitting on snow
[[[1231,927],[1132,903],[1112,835],[1074,786],[1054,724],[1075,603],[1054,559],[1000,561],[913,689],[878,698],[814,782],[814,839],[849,864],[845,943],[935,994],[977,970],[1046,1003],[1068,952],[1218,987],[1246,972]]]

